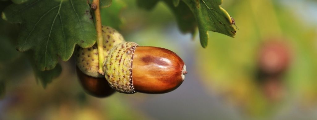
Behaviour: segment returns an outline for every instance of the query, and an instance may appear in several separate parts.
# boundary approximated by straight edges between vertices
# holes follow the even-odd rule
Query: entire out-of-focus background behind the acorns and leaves
[[[81,87],[73,58],[60,61],[53,81],[38,81],[10,42],[17,26],[0,20],[0,119],[317,119],[317,1],[223,0],[236,36],[209,32],[205,49],[198,34],[179,31],[165,3],[147,11],[113,1],[125,3],[123,24],[113,27],[126,41],[177,53],[188,71],[183,84],[165,94],[96,98]]]

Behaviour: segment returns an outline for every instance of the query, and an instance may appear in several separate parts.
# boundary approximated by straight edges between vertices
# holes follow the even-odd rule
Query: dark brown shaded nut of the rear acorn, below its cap
[[[81,72],[78,67],[76,67],[76,72],[81,86],[87,94],[98,98],[104,98],[115,92],[115,90],[109,86],[108,81],[105,80],[105,78],[96,78],[86,75]]]

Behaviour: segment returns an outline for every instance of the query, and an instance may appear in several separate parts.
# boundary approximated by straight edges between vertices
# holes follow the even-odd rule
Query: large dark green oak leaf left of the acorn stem
[[[28,0],[8,6],[2,19],[21,24],[16,49],[32,49],[36,67],[41,71],[53,69],[58,57],[67,61],[76,44],[87,48],[96,41],[86,0]]]

